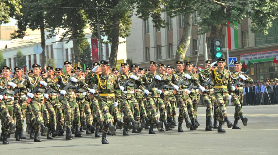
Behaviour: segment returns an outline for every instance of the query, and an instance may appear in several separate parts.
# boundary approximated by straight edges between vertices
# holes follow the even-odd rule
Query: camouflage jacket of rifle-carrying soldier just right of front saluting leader
[[[120,74],[117,76],[116,91],[118,93],[121,93],[121,98],[124,98],[124,99],[134,98],[134,93],[130,93],[130,92],[134,91],[135,84],[137,86],[140,86],[142,84],[142,79],[140,77],[136,76],[137,80],[135,81],[134,79],[130,78],[130,81],[125,86],[124,90],[121,91],[120,86],[122,86],[128,80],[130,75],[132,75],[132,73],[128,73],[128,75]],[[127,93],[125,93],[125,91],[127,91]]]

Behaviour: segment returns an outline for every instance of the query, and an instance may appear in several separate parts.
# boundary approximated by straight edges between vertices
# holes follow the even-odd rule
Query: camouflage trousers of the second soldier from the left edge
[[[19,102],[23,101],[23,102]],[[15,98],[14,100],[14,115],[16,118],[16,128],[22,129],[24,118],[26,115],[26,98]]]

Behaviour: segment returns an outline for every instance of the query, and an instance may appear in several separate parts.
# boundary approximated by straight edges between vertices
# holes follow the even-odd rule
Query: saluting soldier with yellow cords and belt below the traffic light
[[[216,64],[218,61],[218,69],[210,70],[210,68]],[[228,119],[227,111],[225,105],[228,103],[229,99],[233,95],[232,79],[230,76],[230,71],[225,69],[226,59],[219,58],[216,62],[213,62],[204,70],[204,75],[211,77],[214,83],[214,94],[219,105],[219,116],[218,116],[218,129],[217,132],[226,132],[222,128],[222,123],[225,120],[227,122],[228,128],[231,128],[233,124]]]

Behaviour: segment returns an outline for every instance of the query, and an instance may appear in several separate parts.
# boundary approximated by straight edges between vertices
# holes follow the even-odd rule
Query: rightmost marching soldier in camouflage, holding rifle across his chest
[[[247,75],[244,75],[244,73],[241,71],[242,69],[242,63],[240,61],[235,61],[234,63],[234,71],[231,72],[231,78],[233,84],[235,84],[236,81],[239,80],[238,84],[233,86],[233,97],[232,97],[232,103],[235,106],[234,111],[234,125],[232,129],[240,129],[238,126],[238,120],[241,119],[244,126],[247,125],[247,118],[243,116],[242,111],[242,103],[243,103],[243,90],[242,87],[245,86],[245,83],[253,83],[253,79],[248,77]]]

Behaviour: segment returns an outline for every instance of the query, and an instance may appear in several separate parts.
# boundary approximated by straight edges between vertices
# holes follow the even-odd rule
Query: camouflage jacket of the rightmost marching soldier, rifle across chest
[[[243,86],[245,86],[245,83],[250,83],[252,84],[253,83],[253,79],[248,77],[247,75],[244,75],[247,79],[244,81],[242,80],[242,78],[239,78],[240,75],[243,75],[244,72],[236,72],[236,71],[233,71],[231,72],[231,77],[232,77],[232,83],[234,84],[236,81],[239,80],[238,82],[238,85],[236,86],[238,89],[235,89],[234,90],[234,94],[243,94]]]

